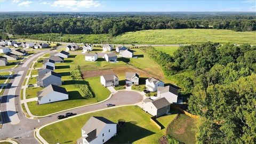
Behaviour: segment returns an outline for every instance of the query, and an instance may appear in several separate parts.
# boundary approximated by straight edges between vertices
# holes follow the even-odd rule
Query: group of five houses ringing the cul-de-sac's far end
[[[119,79],[116,75],[103,75],[100,76],[100,83],[105,86],[118,86]],[[137,73],[126,73],[125,84],[139,85],[139,75]],[[159,81],[154,77],[146,79],[146,89],[150,92],[156,92],[156,97],[150,97],[143,100],[142,109],[150,115],[159,117],[170,112],[171,103],[177,103],[178,101],[178,89],[177,87],[168,85],[164,86],[164,82]]]

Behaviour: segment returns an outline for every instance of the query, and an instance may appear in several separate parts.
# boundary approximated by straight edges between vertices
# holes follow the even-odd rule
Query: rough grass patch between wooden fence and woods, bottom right
[[[180,142],[196,143],[196,123],[197,119],[191,118],[185,114],[179,114],[177,118],[170,123],[166,133]]]

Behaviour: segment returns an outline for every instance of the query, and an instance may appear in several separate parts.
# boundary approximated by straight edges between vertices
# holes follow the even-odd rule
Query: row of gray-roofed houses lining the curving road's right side
[[[68,99],[66,89],[60,87],[60,85],[62,85],[61,75],[54,72],[55,63],[62,63],[64,59],[68,57],[68,52],[61,51],[43,60],[43,68],[37,70],[37,85],[45,87],[42,91],[37,93],[37,102],[39,105]]]

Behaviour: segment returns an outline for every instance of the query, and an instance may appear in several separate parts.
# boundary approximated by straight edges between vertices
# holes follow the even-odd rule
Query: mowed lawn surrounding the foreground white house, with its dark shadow
[[[49,143],[76,143],[82,136],[81,128],[91,116],[102,116],[115,123],[118,123],[118,119],[125,119],[126,124],[120,132],[106,143],[158,143],[158,139],[165,133],[165,130],[157,129],[150,122],[151,115],[141,108],[126,106],[66,119],[44,127],[40,134]],[[166,119],[169,118],[171,122],[171,116]]]

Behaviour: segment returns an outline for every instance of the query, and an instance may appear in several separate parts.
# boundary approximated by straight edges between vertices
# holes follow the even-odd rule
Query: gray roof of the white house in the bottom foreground
[[[82,127],[82,130],[86,132],[88,137],[86,140],[88,142],[97,138],[102,129],[106,126],[106,124],[115,124],[114,122],[109,121],[104,117],[92,116],[86,124]]]

